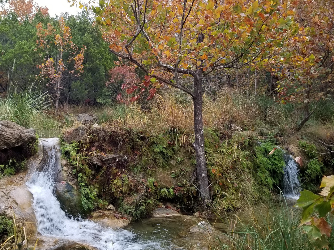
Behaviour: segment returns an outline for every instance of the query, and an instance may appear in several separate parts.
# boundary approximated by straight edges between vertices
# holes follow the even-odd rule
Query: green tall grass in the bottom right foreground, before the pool
[[[270,208],[265,209],[264,206],[248,207],[241,213],[248,220],[238,215],[233,220],[225,215],[229,232],[214,238],[210,243],[212,249],[314,250],[300,226],[301,211],[289,207],[285,201],[279,206],[271,204]]]

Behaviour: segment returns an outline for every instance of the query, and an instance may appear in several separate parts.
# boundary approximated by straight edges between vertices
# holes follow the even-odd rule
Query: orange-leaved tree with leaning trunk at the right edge
[[[293,2],[300,31],[278,69],[282,103],[301,103],[300,130],[316,110],[310,104],[329,98],[334,89],[334,7],[328,0]],[[316,10],[316,11],[315,11]]]

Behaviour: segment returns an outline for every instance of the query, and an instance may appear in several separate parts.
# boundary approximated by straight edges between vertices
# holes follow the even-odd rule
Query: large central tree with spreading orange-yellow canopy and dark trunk
[[[192,97],[197,181],[207,204],[203,78],[228,68],[262,67],[279,56],[298,30],[290,5],[277,0],[101,0],[99,7],[91,8],[105,27],[110,51],[147,75],[137,95],[150,87],[150,98],[165,84]],[[183,86],[180,77],[191,77],[192,88]]]

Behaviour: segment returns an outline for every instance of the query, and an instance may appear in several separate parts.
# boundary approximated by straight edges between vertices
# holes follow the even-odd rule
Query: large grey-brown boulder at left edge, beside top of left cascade
[[[11,121],[0,121],[0,165],[18,170],[20,162],[37,151],[36,132]]]

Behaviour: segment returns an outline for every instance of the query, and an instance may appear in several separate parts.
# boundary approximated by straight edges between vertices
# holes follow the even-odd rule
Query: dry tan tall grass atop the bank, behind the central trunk
[[[288,131],[295,122],[292,112],[290,106],[272,98],[245,98],[243,93],[225,89],[215,98],[204,97],[203,123],[206,127],[216,128],[235,123],[248,130],[277,126]],[[145,109],[138,103],[118,104],[98,113],[104,124],[139,130],[163,131],[170,127],[192,130],[194,123],[191,99],[180,99],[171,91],[155,96]]]

